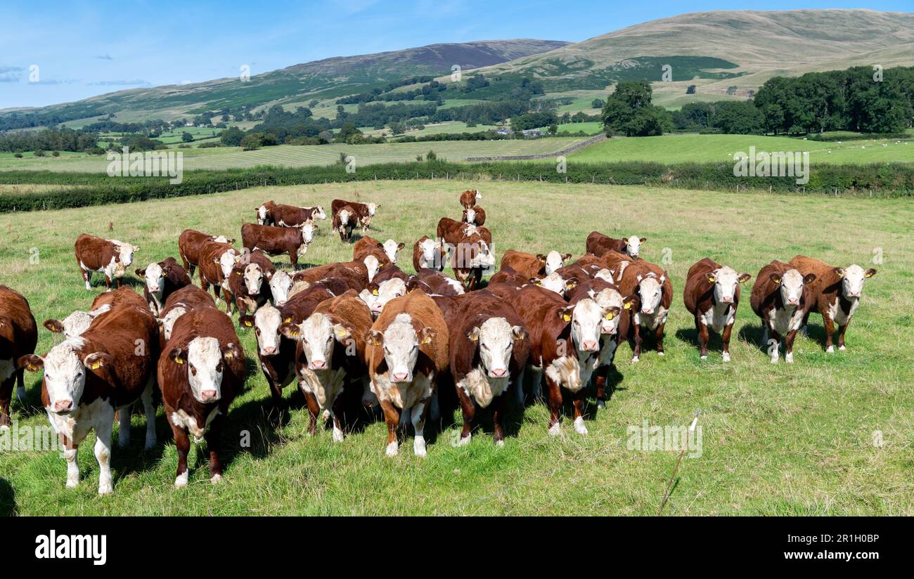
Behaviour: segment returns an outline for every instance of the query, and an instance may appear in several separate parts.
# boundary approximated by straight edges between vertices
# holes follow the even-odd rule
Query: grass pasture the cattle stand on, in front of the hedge
[[[88,308],[95,295],[84,289],[73,258],[73,239],[81,232],[143,246],[137,254],[137,267],[143,267],[175,255],[186,227],[239,237],[241,222],[251,220],[261,201],[329,206],[335,197],[358,194],[382,205],[374,237],[411,246],[433,235],[440,216],[458,216],[457,195],[470,187],[483,193],[499,256],[511,247],[579,255],[588,233],[600,229],[647,237],[643,258],[669,258],[675,294],[666,355],[649,351],[632,364],[630,349],[622,346],[606,409],[597,412],[590,400],[589,436],[575,434],[566,415],[562,435],[549,437],[544,405],[528,402],[521,410],[512,401],[505,447],[494,447],[486,420],[470,445],[454,447],[459,427],[445,420],[436,426],[441,433],[430,436],[427,459],[412,455],[411,437],[390,459],[383,422],[348,433],[339,444],[329,431],[307,437],[303,397],[294,388],[286,390],[288,422],[273,429],[264,418],[269,394],[255,363],[254,336],[241,332],[250,377],[228,416],[221,484],[209,484],[205,449],[196,446],[189,487],[173,488],[175,447],[160,409],[161,440],[154,451],[143,452],[142,416],[134,416],[131,446],[114,448],[113,496],[96,494],[92,435],[80,448],[82,480],[75,490],[64,487],[66,467],[58,453],[0,454],[0,513],[654,514],[677,453],[630,449],[628,428],[643,421],[687,426],[701,409],[702,454],[684,458],[666,514],[914,514],[909,199],[453,181],[262,188],[2,215],[2,281],[27,296],[40,324]],[[810,216],[828,218],[813,223]],[[29,262],[32,247],[40,256],[35,265]],[[866,282],[846,352],[824,353],[821,320],[813,317],[810,337],[795,344],[796,363],[772,365],[757,345],[760,324],[747,288],[733,332],[733,362],[721,362],[718,338],[707,361],[698,359],[694,324],[682,305],[685,272],[697,259],[711,256],[754,277],[772,258],[798,253],[868,267],[875,247],[882,248],[884,263]],[[306,257],[308,263],[344,260],[351,247],[324,227]],[[286,258],[277,261],[288,266]],[[40,328],[38,352],[56,340]],[[27,375],[28,406],[14,403],[13,417],[20,426],[46,426],[37,407],[40,374]],[[460,419],[459,413],[453,417]],[[882,447],[873,442],[877,430]],[[250,447],[240,446],[245,432]]]

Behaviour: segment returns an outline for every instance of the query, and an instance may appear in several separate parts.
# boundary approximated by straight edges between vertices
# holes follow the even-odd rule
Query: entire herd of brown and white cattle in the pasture
[[[180,262],[165,258],[135,270],[145,281],[143,296],[121,287],[140,247],[81,235],[75,249],[86,289],[94,271],[104,274],[109,290],[114,280],[118,288],[97,296],[88,311],[45,321],[63,340],[41,356],[27,300],[0,286],[0,426],[10,425],[14,383],[21,401],[24,370],[43,369],[41,402],[65,447],[67,486],[79,481],[77,448],[94,428],[99,492],[106,493],[112,491],[116,415],[119,444],[125,446],[131,406],[142,400],[145,445],[154,447],[160,394],[178,454],[175,485],[187,484],[190,436],[206,439],[211,480],[217,482],[220,431],[245,383],[245,353],[229,317],[234,307],[238,327],[256,334],[272,404],[281,406],[283,387],[297,379],[311,434],[324,416],[340,441],[350,406],[379,405],[388,426],[388,456],[398,452],[402,418],[415,429],[415,454],[424,457],[427,416],[440,415],[450,395],[462,409],[462,444],[470,440],[476,412],[487,407],[494,441],[503,444],[509,385],[515,384],[523,405],[525,375],[534,396],[545,378],[549,434],[559,433],[565,395],[573,404],[574,429],[587,434],[586,386],[595,384],[598,407],[604,407],[617,347],[631,341],[632,362],[638,362],[644,338],[653,335],[656,353],[664,355],[670,279],[664,268],[639,257],[645,238],[614,239],[595,231],[587,237],[586,253],[574,261],[558,251],[507,250],[501,268],[481,288],[495,259],[485,212],[476,205],[480,198],[478,191],[463,192],[462,219],[443,217],[436,237],[415,242],[413,275],[397,265],[403,243],[365,235],[378,205],[343,200],[333,202],[333,229],[345,242],[356,226],[363,231],[351,261],[296,268],[316,222],[327,216],[319,206],[268,202],[257,207],[257,224],[241,227],[241,251],[235,239],[184,231],[177,240]],[[285,253],[290,272],[269,257]],[[448,266],[453,278],[442,273]],[[199,287],[191,280],[195,271]],[[827,351],[834,351],[834,323],[844,350],[864,279],[875,273],[803,256],[761,268],[751,307],[762,321],[771,362],[778,361],[783,341],[792,363],[794,337],[813,310],[823,316]],[[740,284],[750,278],[710,258],[689,269],[684,301],[695,317],[702,359],[713,330],[721,333],[723,360],[729,361]],[[218,310],[220,299],[226,313]]]

